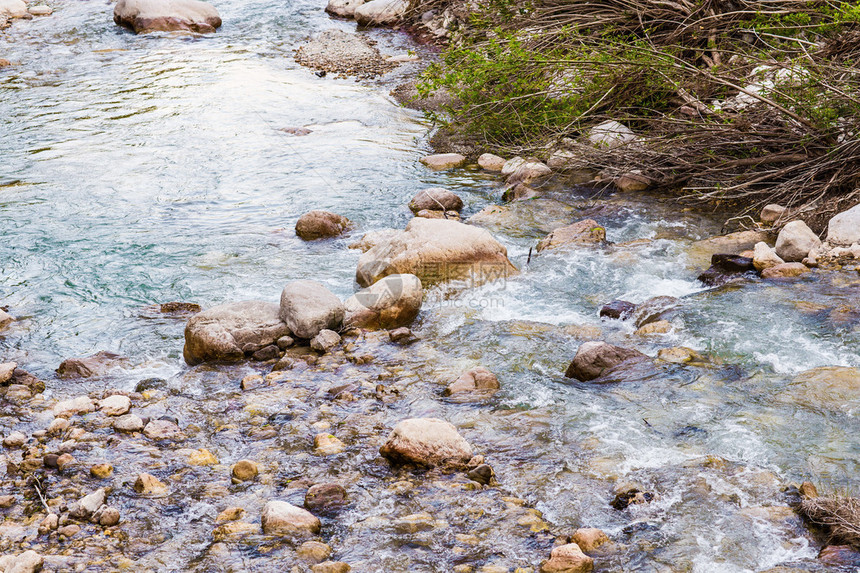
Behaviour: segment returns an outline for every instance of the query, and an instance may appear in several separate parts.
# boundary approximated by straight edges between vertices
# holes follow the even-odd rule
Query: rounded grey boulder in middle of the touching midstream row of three
[[[293,281],[281,292],[281,320],[299,338],[313,338],[321,330],[340,330],[343,304],[317,281]]]

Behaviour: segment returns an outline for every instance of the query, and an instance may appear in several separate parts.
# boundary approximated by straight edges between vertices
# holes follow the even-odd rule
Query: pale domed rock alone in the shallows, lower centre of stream
[[[410,418],[394,427],[379,453],[393,463],[462,465],[472,458],[472,446],[444,420]]]

